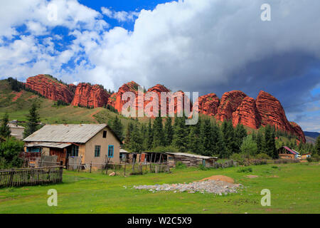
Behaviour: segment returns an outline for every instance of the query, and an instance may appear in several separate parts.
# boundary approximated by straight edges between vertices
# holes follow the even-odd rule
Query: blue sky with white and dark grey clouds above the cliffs
[[[1,1],[0,78],[265,90],[320,131],[320,2],[269,2],[271,21],[260,19],[264,0]]]

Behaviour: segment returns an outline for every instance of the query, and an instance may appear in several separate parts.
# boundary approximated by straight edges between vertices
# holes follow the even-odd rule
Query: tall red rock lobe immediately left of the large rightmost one
[[[257,129],[260,127],[261,118],[255,105],[255,99],[246,97],[240,106],[233,113],[233,125],[246,125],[249,128]]]

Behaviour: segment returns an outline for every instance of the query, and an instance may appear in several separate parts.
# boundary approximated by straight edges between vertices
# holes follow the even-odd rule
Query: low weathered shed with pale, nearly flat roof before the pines
[[[169,166],[176,166],[176,162],[182,162],[186,166],[198,166],[203,165],[205,167],[211,167],[214,165],[218,157],[208,157],[203,155],[193,155],[185,152],[166,152],[168,155]]]

